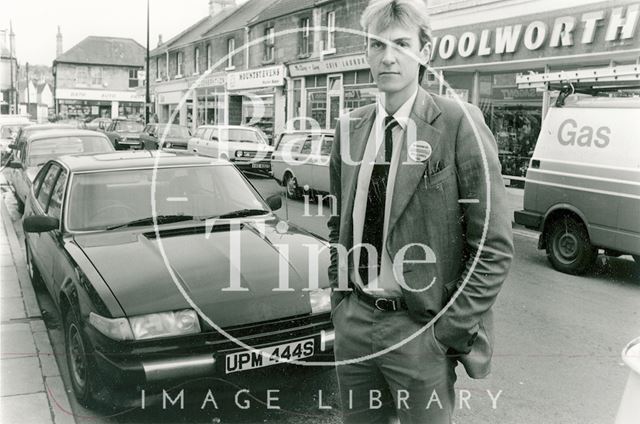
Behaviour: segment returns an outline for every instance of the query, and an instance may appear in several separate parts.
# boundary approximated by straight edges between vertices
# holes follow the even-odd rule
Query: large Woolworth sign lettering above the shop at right
[[[640,48],[640,2],[535,14],[434,33],[434,66]],[[477,61],[475,63],[478,63]]]

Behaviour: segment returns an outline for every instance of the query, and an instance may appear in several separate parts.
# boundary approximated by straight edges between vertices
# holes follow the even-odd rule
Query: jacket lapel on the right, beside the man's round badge
[[[433,98],[424,89],[418,88],[416,102],[413,105],[411,119],[402,143],[400,163],[393,189],[387,237],[393,232],[398,219],[407,208],[427,168],[428,161],[413,162],[409,158],[407,145],[413,144],[415,141],[426,141],[431,145],[433,155],[440,143],[440,131],[431,126],[431,124],[440,113],[440,108],[433,101]],[[414,124],[415,131],[411,129],[411,125]]]

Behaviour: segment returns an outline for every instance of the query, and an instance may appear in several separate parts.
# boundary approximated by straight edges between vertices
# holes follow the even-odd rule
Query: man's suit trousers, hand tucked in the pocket
[[[402,346],[360,360],[401,342],[422,328],[407,311],[386,312],[346,296],[332,315],[336,368],[345,423],[444,424],[455,402],[455,359],[434,336],[433,326]]]

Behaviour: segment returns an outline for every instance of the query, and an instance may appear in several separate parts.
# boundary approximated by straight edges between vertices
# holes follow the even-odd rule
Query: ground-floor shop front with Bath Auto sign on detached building
[[[104,91],[59,88],[58,113],[69,119],[139,118],[144,113],[144,96],[135,91]]]

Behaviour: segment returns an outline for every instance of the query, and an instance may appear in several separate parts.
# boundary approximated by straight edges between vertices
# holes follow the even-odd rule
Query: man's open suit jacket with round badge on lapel
[[[330,187],[338,214],[328,223],[334,309],[347,294],[336,290],[338,277],[347,278],[352,266],[351,256],[348,263],[338,260],[336,246],[349,253],[353,247],[359,162],[375,114],[375,104],[356,109],[342,116],[336,128]],[[497,145],[477,107],[462,107],[422,88],[410,117],[415,129],[410,124],[405,138],[426,141],[432,153],[425,161],[413,161],[403,143],[386,248],[392,260],[412,243],[433,251],[434,263],[424,263],[420,248],[405,252],[405,261],[416,261],[404,265],[406,285],[413,289],[431,285],[419,293],[402,289],[409,314],[424,324],[439,316],[434,328],[437,339],[456,352],[470,377],[482,378],[490,371],[493,353],[491,307],[513,258]]]

